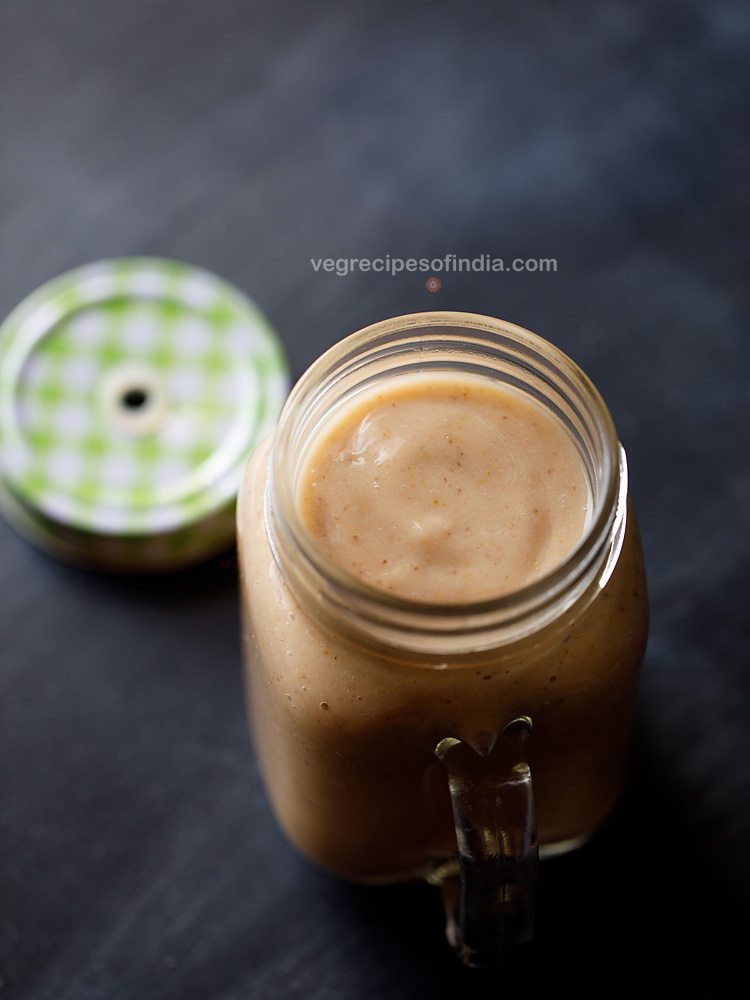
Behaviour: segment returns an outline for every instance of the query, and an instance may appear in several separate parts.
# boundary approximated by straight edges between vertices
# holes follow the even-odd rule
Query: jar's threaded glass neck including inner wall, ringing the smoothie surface
[[[465,604],[422,602],[368,585],[325,556],[296,503],[309,444],[336,408],[386,377],[439,371],[500,380],[547,407],[581,455],[592,500],[588,524],[562,564],[518,590]],[[417,313],[347,337],[297,383],[274,438],[267,531],[295,597],[335,619],[339,630],[414,651],[474,651],[535,631],[590,587],[611,549],[623,506],[618,504],[622,480],[612,420],[593,384],[570,358],[541,337],[491,317]]]

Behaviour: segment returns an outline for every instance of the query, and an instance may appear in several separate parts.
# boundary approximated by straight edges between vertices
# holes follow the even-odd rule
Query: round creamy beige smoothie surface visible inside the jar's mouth
[[[392,379],[314,442],[298,504],[329,559],[380,590],[487,600],[558,566],[581,538],[583,463],[563,426],[507,385]]]

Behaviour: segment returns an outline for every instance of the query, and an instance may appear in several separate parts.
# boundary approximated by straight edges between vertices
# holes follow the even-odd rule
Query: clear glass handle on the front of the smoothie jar
[[[538,845],[528,745],[519,716],[477,751],[453,737],[436,756],[448,772],[458,871],[443,866],[446,933],[467,965],[502,964],[531,942]]]

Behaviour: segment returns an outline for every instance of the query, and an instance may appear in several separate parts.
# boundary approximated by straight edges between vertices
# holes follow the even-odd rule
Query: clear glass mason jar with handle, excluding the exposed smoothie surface
[[[321,424],[416,372],[500,380],[574,441],[592,513],[537,582],[473,604],[394,597],[327,559],[304,527],[295,487]],[[625,455],[597,390],[497,319],[376,323],[291,393],[246,469],[238,531],[252,735],[281,826],[346,878],[442,885],[463,960],[498,961],[530,938],[537,845],[583,843],[623,780],[647,601]]]

